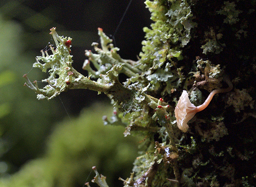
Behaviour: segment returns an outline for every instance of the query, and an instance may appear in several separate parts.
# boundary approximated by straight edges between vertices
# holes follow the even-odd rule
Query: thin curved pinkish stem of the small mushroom
[[[210,94],[209,96],[207,97],[207,99],[204,101],[203,104],[199,105],[196,107],[196,112],[200,112],[202,111],[203,109],[205,109],[209,103],[211,102],[212,100],[212,97],[216,94],[216,93],[224,93],[224,92],[229,92],[233,89],[233,84],[231,83],[229,77],[224,74],[223,76],[224,78],[224,81],[228,84],[228,88],[221,88],[221,89],[214,89]]]

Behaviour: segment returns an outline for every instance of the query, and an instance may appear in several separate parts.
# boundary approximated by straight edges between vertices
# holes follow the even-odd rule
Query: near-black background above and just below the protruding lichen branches
[[[59,35],[70,36],[74,68],[86,75],[82,70],[85,60],[84,51],[92,49],[92,42],[99,42],[97,28],[100,27],[120,48],[119,54],[124,59],[137,60],[144,40],[144,26],[150,26],[150,12],[143,0],[133,0],[123,21],[129,0],[23,0],[1,1],[0,12],[7,19],[15,20],[22,25],[24,34],[24,53],[35,50],[40,55],[48,42],[54,43],[49,29],[56,27]],[[28,62],[31,64],[34,63]],[[29,70],[27,70],[28,72]],[[27,72],[24,72],[27,73]],[[28,76],[34,75],[33,70]],[[36,95],[35,95],[36,97]],[[94,101],[107,99],[104,94],[90,90],[71,90],[60,96],[70,115],[79,114],[85,106]],[[60,106],[63,108],[63,106]]]

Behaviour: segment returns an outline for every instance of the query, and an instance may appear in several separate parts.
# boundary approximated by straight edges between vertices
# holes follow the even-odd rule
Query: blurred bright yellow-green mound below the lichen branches
[[[112,186],[113,181],[118,182],[117,177],[129,177],[137,141],[123,136],[124,127],[102,125],[99,116],[110,111],[106,104],[94,104],[79,118],[64,119],[49,137],[46,154],[28,162],[11,177],[2,178],[0,186],[82,186],[94,165],[107,173],[107,182]]]

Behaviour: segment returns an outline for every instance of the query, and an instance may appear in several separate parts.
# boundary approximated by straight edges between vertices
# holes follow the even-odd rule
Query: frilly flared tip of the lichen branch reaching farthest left
[[[38,93],[38,99],[54,98],[55,96],[59,95],[60,92],[65,91],[68,84],[77,78],[69,75],[69,72],[73,73],[73,71],[75,71],[72,67],[72,56],[69,53],[70,46],[66,45],[67,40],[71,42],[72,38],[64,38],[63,36],[59,36],[55,31],[55,28],[51,29],[50,34],[54,38],[57,46],[56,49],[54,50],[54,48],[50,46],[52,55],[49,55],[47,51],[42,50],[42,56],[37,56],[37,62],[33,64],[34,68],[39,68],[43,72],[50,69],[48,71],[49,77],[42,80],[43,82],[48,82],[49,84],[43,89],[40,89],[37,86],[37,81],[34,81],[35,86],[33,86],[33,84],[27,78],[27,75],[24,75],[24,77],[27,79],[26,85]],[[39,61],[44,62],[44,64],[40,63]]]

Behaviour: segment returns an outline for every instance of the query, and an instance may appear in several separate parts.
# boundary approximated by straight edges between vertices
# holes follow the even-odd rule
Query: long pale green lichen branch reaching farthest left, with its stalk
[[[49,77],[42,80],[43,82],[47,82],[48,85],[40,89],[37,86],[37,82],[34,81],[34,86],[26,74],[23,76],[27,80],[27,83],[24,85],[33,89],[38,94],[38,99],[52,99],[61,92],[69,89],[91,89],[111,94],[114,96],[115,100],[119,100],[115,93],[119,92],[120,94],[125,92],[124,90],[127,90],[127,88],[119,83],[117,78],[118,72],[122,72],[124,65],[113,63],[109,70],[105,72],[105,75],[99,74],[98,81],[93,81],[83,76],[72,67],[73,61],[72,55],[70,55],[72,38],[59,36],[55,28],[51,28],[50,31],[56,43],[56,49],[54,50],[54,48],[50,46],[52,55],[49,55],[47,51],[41,51],[42,56],[37,56],[36,63],[33,64],[33,67],[40,68],[43,72],[48,70]],[[106,50],[106,46],[104,49]],[[40,61],[44,63],[40,63]]]

